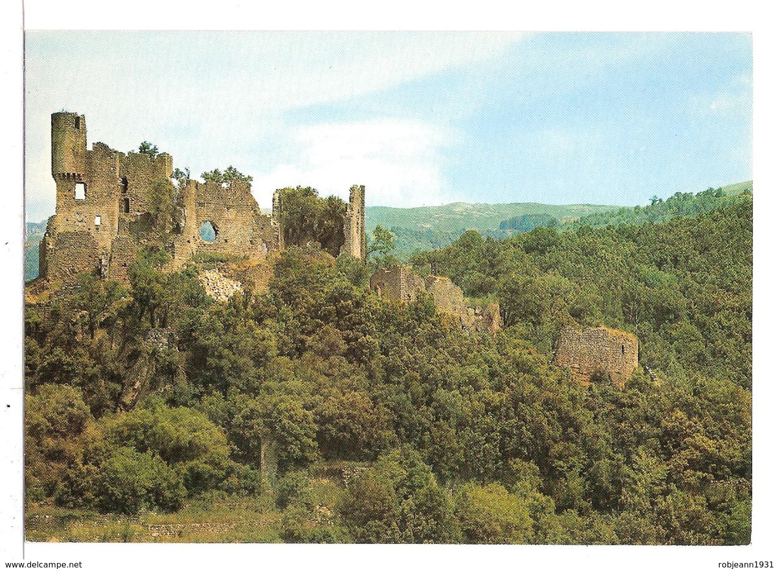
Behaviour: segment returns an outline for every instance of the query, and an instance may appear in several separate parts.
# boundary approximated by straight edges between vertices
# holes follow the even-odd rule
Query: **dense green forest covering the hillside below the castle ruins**
[[[227,304],[196,279],[213,260],[83,275],[26,309],[28,507],[264,497],[269,540],[748,543],[752,200],[728,200],[411,258],[497,300],[494,337],[371,292],[389,247],[288,249],[269,292]],[[637,335],[625,387],[550,363],[572,321]]]

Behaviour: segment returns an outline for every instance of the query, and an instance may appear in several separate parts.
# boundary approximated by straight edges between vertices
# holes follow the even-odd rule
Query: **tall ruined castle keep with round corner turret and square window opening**
[[[92,150],[86,150],[83,115],[51,115],[57,213],[49,219],[41,245],[41,276],[59,279],[90,270],[127,282],[126,269],[135,260],[137,246],[118,237],[150,230],[150,193],[171,172],[168,154],[125,156],[104,143],[93,143]],[[83,253],[73,250],[79,242],[86,247]]]

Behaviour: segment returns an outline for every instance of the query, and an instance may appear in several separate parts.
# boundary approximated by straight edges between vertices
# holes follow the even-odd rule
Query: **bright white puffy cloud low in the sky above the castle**
[[[440,150],[450,133],[401,120],[305,126],[294,140],[299,158],[255,176],[252,189],[261,207],[273,190],[313,186],[321,195],[347,197],[353,184],[366,187],[368,205],[413,207],[453,201],[442,177]]]

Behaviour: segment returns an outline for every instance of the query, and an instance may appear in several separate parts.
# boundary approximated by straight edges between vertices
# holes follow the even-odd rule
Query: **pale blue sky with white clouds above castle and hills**
[[[194,175],[368,205],[647,203],[752,178],[745,34],[26,34],[26,205],[54,213],[49,115]]]

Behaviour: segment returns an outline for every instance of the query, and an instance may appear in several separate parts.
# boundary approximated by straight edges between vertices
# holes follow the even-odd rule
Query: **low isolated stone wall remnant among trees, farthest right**
[[[570,368],[583,383],[605,369],[615,383],[623,385],[638,367],[638,338],[605,326],[565,327],[560,331],[555,364]]]

